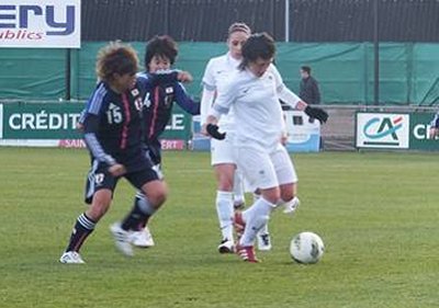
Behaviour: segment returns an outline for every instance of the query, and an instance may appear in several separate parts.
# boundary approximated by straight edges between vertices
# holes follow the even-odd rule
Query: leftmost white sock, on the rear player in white
[[[223,240],[233,240],[233,194],[230,192],[216,192],[216,213]]]

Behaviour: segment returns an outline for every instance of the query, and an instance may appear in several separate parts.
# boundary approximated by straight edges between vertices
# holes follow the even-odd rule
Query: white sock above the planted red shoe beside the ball
[[[267,225],[270,219],[270,213],[274,204],[266,201],[263,197],[259,198],[249,209],[245,210],[247,221],[244,235],[240,238],[239,244],[252,246],[258,231]],[[244,215],[244,213],[243,213]]]

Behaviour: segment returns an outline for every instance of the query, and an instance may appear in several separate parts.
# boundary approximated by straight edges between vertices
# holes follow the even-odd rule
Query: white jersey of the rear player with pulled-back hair
[[[229,53],[216,58],[212,58],[209,61],[203,76],[203,85],[205,87],[205,89],[210,91],[215,91],[217,96],[218,93],[221,93],[222,88],[228,82],[230,75],[233,75],[237,70],[239,62],[240,61],[234,59],[229,55]],[[204,102],[203,100],[201,103],[201,117],[202,122],[204,123],[211,105],[206,105],[209,104],[209,102]],[[226,116],[222,117],[221,119],[219,124],[222,130],[230,132],[230,129],[233,129],[234,127],[233,123],[234,112],[230,111]]]

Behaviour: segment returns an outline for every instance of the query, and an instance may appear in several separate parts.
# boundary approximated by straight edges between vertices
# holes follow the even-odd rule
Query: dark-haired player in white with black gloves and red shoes
[[[328,115],[322,109],[308,106],[284,85],[272,65],[275,45],[268,34],[251,35],[241,53],[239,69],[229,77],[209,112],[206,132],[213,138],[226,137],[218,132],[218,119],[234,110],[237,167],[249,185],[261,193],[252,206],[235,213],[236,252],[244,261],[258,262],[254,250],[257,232],[278,205],[294,199],[297,182],[290,156],[281,145],[284,122],[279,100],[320,122],[326,122]]]

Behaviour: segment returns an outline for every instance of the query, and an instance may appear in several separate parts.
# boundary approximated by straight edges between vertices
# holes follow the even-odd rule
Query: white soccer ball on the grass
[[[291,258],[297,263],[317,263],[324,252],[325,244],[323,240],[313,232],[301,232],[290,243]]]

